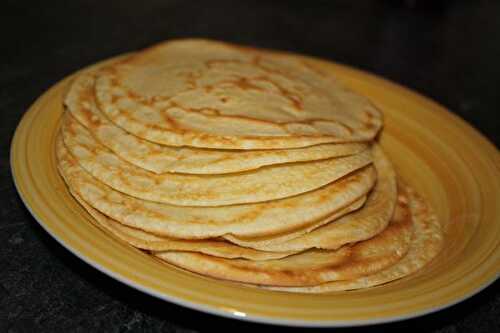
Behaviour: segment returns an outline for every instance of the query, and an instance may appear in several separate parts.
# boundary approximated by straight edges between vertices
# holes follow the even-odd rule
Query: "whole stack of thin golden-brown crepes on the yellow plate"
[[[442,243],[381,113],[297,56],[156,45],[73,81],[58,167],[95,223],[169,264],[296,292],[369,287]]]

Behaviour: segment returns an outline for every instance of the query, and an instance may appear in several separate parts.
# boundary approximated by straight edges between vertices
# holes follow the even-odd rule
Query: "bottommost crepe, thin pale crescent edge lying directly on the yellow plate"
[[[380,272],[352,280],[328,282],[312,287],[271,287],[271,289],[301,293],[326,293],[369,288],[401,279],[424,268],[441,251],[444,241],[443,232],[439,220],[426,201],[413,189],[407,187],[406,191],[415,232],[408,253],[399,262]]]

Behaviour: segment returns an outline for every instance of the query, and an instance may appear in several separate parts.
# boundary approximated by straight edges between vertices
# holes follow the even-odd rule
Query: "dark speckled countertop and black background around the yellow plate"
[[[362,68],[448,107],[500,144],[498,1],[3,1],[0,332],[275,332],[159,301],[77,259],[31,217],[9,145],[30,104],[73,71],[173,38],[295,51]],[[500,282],[418,319],[375,327],[500,332]],[[373,327],[352,331],[373,331]]]

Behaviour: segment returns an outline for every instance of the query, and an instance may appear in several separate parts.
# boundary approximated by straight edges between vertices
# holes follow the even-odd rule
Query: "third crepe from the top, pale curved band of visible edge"
[[[372,163],[371,150],[327,160],[273,165],[224,175],[155,174],[118,158],[69,113],[64,144],[92,176],[114,189],[181,206],[222,206],[286,198],[308,192]]]

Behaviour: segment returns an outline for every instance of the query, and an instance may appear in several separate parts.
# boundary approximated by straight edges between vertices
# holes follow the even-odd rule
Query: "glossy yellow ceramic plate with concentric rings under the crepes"
[[[443,107],[394,83],[321,60],[384,112],[383,147],[398,172],[436,210],[445,248],[415,275],[325,295],[257,290],[162,264],[109,237],[66,190],[54,140],[67,78],[24,115],[11,147],[17,189],[36,220],[95,268],[150,295],[222,316],[287,325],[347,326],[419,316],[477,293],[500,271],[500,154]]]

